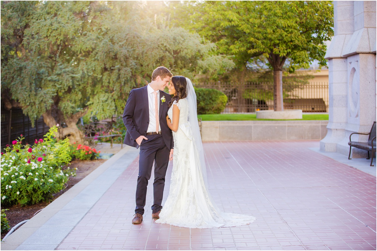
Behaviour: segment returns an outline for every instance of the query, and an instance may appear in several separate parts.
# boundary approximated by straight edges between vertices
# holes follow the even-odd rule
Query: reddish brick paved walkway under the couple
[[[257,218],[231,228],[156,224],[153,176],[144,221],[132,225],[136,158],[57,249],[375,250],[376,178],[309,149],[318,144],[205,143],[209,189],[219,208]],[[172,163],[164,199],[171,169]]]

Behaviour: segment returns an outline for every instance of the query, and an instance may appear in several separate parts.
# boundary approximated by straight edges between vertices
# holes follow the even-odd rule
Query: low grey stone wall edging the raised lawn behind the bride
[[[328,121],[202,121],[202,141],[321,140]]]

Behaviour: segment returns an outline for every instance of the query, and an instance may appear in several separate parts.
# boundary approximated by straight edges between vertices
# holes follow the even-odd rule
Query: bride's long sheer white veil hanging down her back
[[[202,177],[203,177],[205,185],[207,186],[207,170],[205,168],[202,137],[200,135],[200,129],[199,129],[199,123],[198,123],[198,112],[196,110],[196,94],[195,94],[194,86],[192,85],[191,80],[186,78],[186,82],[187,82],[187,101],[189,103],[188,121],[192,130],[194,147],[196,147],[196,149],[198,150]]]

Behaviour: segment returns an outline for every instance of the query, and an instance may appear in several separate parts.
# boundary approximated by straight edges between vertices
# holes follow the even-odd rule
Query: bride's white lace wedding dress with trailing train
[[[253,216],[221,212],[215,205],[207,189],[205,174],[202,174],[198,148],[188,121],[187,98],[174,101],[168,111],[171,119],[175,105],[179,108],[179,127],[177,132],[173,132],[172,178],[169,196],[156,223],[187,228],[218,228],[246,225],[255,221]]]

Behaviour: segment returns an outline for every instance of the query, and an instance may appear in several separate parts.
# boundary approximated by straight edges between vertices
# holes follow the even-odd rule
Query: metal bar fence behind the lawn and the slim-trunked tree
[[[197,88],[211,88],[228,97],[225,113],[273,110],[273,83],[201,83]],[[303,112],[328,112],[328,82],[283,84],[284,109]]]

